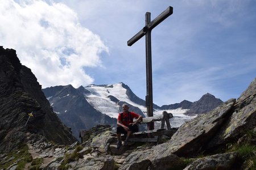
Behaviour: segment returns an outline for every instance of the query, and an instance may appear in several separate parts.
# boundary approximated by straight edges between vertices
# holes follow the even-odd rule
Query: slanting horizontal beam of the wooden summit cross
[[[152,30],[156,27],[156,25],[160,24],[164,19],[168,16],[172,15],[173,8],[169,6],[166,10],[164,10],[160,15],[158,15],[154,20],[152,20],[146,27],[142,28],[135,36],[133,36],[130,40],[127,41],[127,45],[131,46],[136,41],[141,39],[144,35],[146,35],[148,30]]]

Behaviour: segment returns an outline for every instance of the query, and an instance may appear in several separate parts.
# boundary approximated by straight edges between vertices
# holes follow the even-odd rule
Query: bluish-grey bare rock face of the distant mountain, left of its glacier
[[[65,125],[72,129],[77,139],[81,129],[90,129],[100,124],[112,126],[117,124],[115,118],[102,114],[88,103],[84,94],[89,91],[82,86],[79,88],[71,85],[55,86],[46,88],[43,92],[53,104],[53,111]]]

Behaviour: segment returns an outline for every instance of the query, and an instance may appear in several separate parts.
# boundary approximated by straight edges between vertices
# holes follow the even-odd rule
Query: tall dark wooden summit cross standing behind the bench
[[[160,24],[164,19],[172,14],[172,7],[169,6],[162,14],[158,15],[151,22],[150,12],[145,14],[145,27],[142,28],[135,36],[133,36],[127,45],[131,46],[137,42],[141,37],[146,35],[146,81],[147,81],[147,95],[146,95],[146,107],[147,107],[147,117],[153,116],[153,95],[152,95],[152,61],[151,61],[151,30]],[[154,122],[147,125],[148,130],[154,129]]]

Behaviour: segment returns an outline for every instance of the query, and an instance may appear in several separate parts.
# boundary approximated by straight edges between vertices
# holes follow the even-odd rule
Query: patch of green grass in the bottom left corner
[[[28,146],[23,143],[19,146],[19,150],[10,152],[6,158],[0,161],[0,169],[7,169],[12,164],[17,164],[16,169],[24,169],[26,163],[32,161],[32,156],[28,152]]]

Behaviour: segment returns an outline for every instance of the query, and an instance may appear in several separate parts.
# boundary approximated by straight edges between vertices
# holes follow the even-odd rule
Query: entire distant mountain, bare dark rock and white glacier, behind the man
[[[130,111],[141,114],[143,117],[147,115],[145,101],[136,96],[124,83],[90,84],[79,88],[74,88],[71,85],[55,86],[45,88],[43,92],[53,107],[53,111],[57,113],[65,125],[71,127],[77,138],[81,129],[89,129],[97,124],[115,126],[116,118],[118,113],[122,112],[122,104],[124,103],[129,104]],[[214,96],[204,97],[204,99],[211,100],[207,103],[212,103],[213,98],[215,99]],[[200,103],[205,103],[204,101],[197,102],[197,106]],[[192,102],[186,100],[179,104],[163,105],[162,107],[154,104],[153,114],[162,114],[163,111],[172,113],[174,118],[170,119],[171,126],[179,127],[185,121],[195,117],[184,114],[189,111],[192,105]]]

